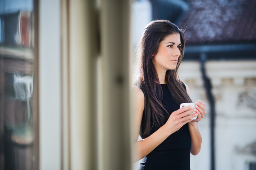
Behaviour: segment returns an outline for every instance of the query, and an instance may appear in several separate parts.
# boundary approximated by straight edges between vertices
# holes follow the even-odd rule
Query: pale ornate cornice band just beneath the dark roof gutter
[[[256,79],[256,60],[208,61],[206,69],[214,88],[224,85],[225,79],[230,79],[234,86],[243,86],[247,79]],[[199,62],[183,61],[179,76],[182,81],[193,80],[195,86],[203,86]],[[256,81],[254,84],[256,85]]]

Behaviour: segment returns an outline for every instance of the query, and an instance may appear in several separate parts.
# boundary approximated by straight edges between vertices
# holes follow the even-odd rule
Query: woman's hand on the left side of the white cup
[[[193,117],[197,116],[198,113],[189,115],[190,113],[196,112],[197,109],[192,109],[192,106],[186,106],[178,109],[177,111],[172,112],[171,116],[167,120],[165,129],[171,135],[179,130],[183,125],[188,122],[191,122]]]

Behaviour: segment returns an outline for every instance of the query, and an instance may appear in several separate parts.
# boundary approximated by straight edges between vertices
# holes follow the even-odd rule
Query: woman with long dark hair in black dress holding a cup
[[[155,20],[137,47],[133,140],[134,161],[143,159],[139,170],[190,170],[190,153],[201,150],[197,122],[204,117],[204,102],[196,101],[195,109],[180,109],[181,103],[192,102],[188,86],[177,78],[184,42],[176,25]],[[143,140],[136,142],[139,133]]]

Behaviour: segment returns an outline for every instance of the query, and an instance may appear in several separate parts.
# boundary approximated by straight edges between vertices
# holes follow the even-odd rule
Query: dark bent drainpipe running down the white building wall
[[[201,73],[202,78],[204,80],[204,88],[207,93],[207,99],[210,104],[210,141],[211,141],[211,170],[215,170],[215,101],[214,97],[212,95],[212,84],[206,75],[206,69],[205,69],[205,61],[207,59],[207,55],[205,53],[200,54],[200,62],[201,62]]]

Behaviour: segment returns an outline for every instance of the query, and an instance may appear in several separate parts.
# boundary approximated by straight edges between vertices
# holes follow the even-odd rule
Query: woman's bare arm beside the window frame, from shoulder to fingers
[[[161,144],[168,136],[170,136],[175,131],[179,130],[180,127],[185,125],[187,122],[192,121],[192,117],[197,116],[197,113],[189,115],[192,112],[195,112],[196,109],[191,109],[190,106],[181,108],[171,114],[168,121],[165,125],[160,127],[156,132],[148,136],[147,138],[137,141],[140,124],[143,116],[144,110],[144,94],[137,86],[133,86],[133,147],[134,147],[134,159],[133,161],[139,161],[143,157],[151,153],[154,148]],[[189,115],[189,116],[187,116]]]

